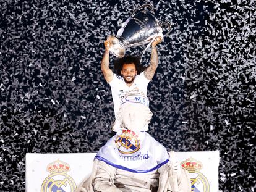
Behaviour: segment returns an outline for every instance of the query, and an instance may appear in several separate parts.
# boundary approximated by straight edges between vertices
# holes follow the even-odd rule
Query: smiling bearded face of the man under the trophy
[[[121,75],[124,78],[124,81],[128,84],[133,83],[135,76],[137,75],[137,70],[135,65],[132,64],[124,64],[122,66]]]

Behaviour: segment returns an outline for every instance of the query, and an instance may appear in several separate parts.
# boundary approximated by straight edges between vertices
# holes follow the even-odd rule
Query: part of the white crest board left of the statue
[[[27,192],[73,192],[90,175],[96,153],[26,154]]]

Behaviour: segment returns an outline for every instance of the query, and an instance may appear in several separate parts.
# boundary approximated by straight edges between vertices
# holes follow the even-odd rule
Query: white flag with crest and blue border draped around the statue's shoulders
[[[148,173],[168,163],[169,154],[147,132],[122,130],[100,148],[95,158],[118,169]]]

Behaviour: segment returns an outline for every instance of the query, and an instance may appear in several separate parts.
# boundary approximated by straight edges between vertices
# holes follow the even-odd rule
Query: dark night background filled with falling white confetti
[[[168,150],[220,151],[220,190],[254,191],[255,2],[228,0],[0,1],[0,191],[24,191],[27,152],[97,152],[113,135],[103,41],[143,2],[173,23],[148,132]]]

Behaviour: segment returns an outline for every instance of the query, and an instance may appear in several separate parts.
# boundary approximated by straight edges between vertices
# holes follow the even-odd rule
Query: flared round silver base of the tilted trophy
[[[126,54],[126,49],[122,46],[121,41],[115,36],[111,35],[109,38],[109,51],[116,57],[122,58]]]

